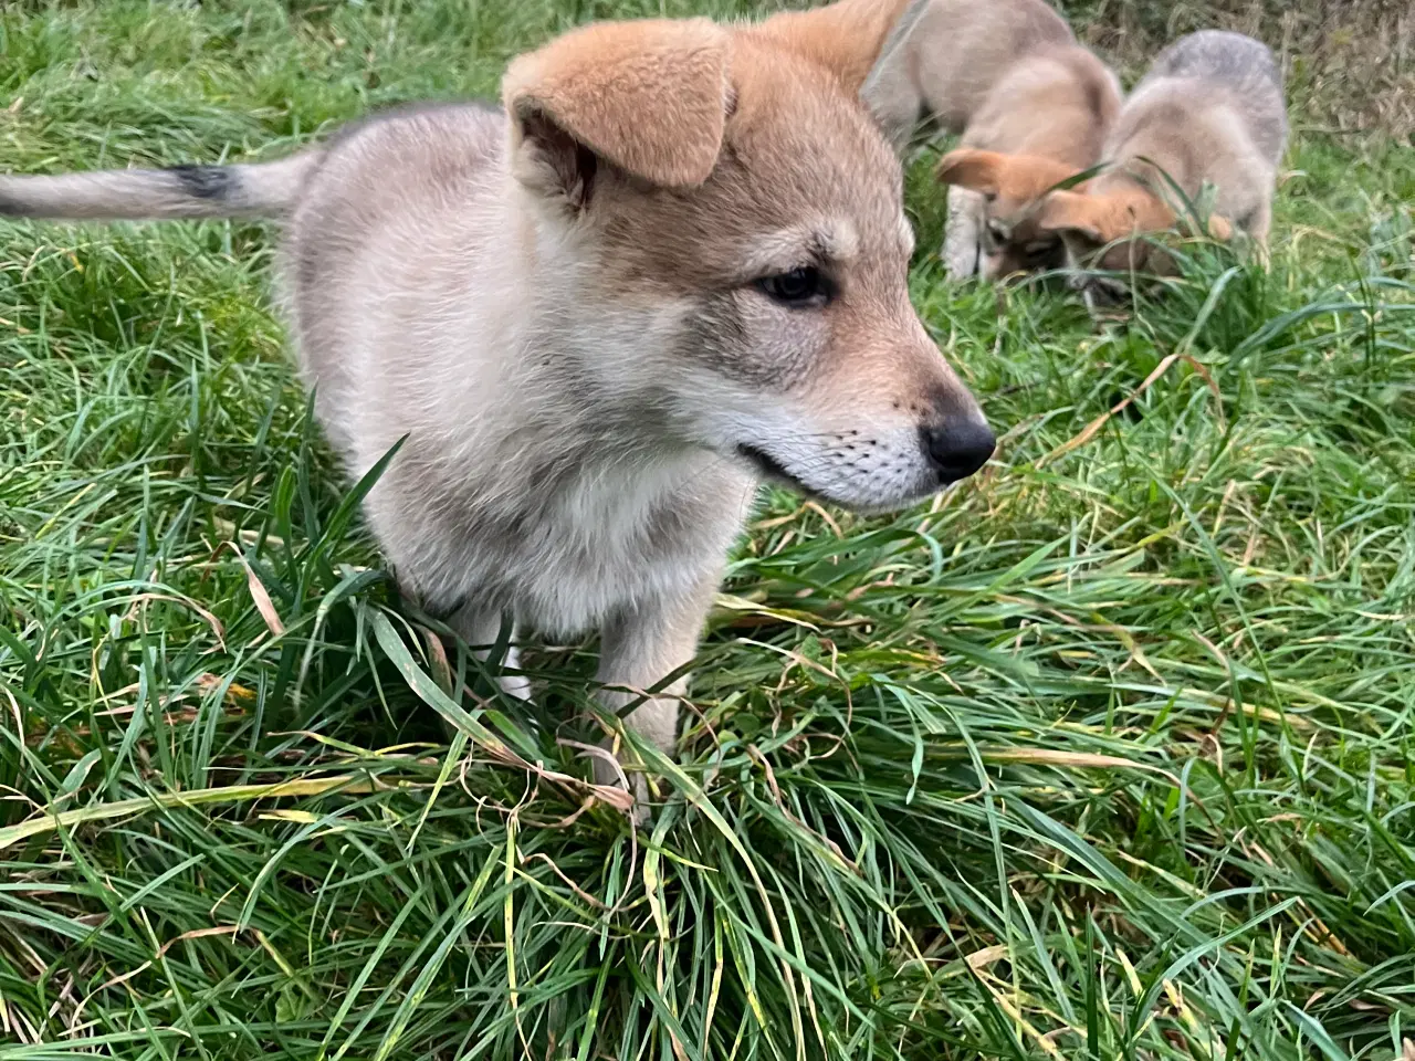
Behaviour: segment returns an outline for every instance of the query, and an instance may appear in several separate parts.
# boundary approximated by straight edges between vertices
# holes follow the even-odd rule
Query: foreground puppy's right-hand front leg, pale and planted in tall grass
[[[617,610],[604,621],[597,678],[607,688],[600,690],[597,699],[607,712],[617,713],[642,699],[638,692],[631,690],[655,686],[693,658],[716,589],[717,576],[713,573],[712,579],[705,579],[691,593],[640,601]],[[686,678],[676,679],[655,696],[642,700],[624,724],[648,738],[664,754],[672,755],[678,744],[678,699],[686,688]],[[621,761],[625,755],[621,751]],[[600,760],[594,763],[594,775],[601,785],[618,782],[614,768]],[[642,774],[635,777],[631,791],[640,801],[647,796]]]

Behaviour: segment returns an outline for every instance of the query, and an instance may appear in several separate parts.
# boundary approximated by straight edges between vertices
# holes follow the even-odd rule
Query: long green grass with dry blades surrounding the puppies
[[[658,10],[10,4],[0,170],[272,157]],[[1398,1057],[1415,151],[1309,88],[1271,272],[1128,324],[948,290],[923,153],[916,303],[999,454],[893,521],[767,499],[638,836],[558,777],[593,645],[449,696],[270,231],[0,226],[0,1058]]]

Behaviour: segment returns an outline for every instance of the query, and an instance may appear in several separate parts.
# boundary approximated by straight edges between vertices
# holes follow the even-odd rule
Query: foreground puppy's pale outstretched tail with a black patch
[[[99,170],[55,177],[0,177],[0,216],[147,221],[280,218],[300,198],[324,151],[255,166]]]

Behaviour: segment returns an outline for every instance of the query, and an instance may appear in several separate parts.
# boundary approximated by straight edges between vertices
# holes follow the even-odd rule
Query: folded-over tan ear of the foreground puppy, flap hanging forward
[[[596,157],[659,187],[696,187],[722,151],[727,72],[727,34],[706,18],[573,30],[502,79],[516,177],[559,185],[574,205]]]

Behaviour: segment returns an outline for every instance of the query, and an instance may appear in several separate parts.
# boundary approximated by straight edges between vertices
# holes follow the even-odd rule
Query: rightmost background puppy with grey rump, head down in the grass
[[[1037,225],[1063,238],[1070,265],[1111,273],[1172,272],[1173,257],[1152,235],[1190,207],[1207,211],[1215,239],[1238,228],[1265,246],[1286,140],[1282,72],[1266,47],[1218,30],[1182,37],[1126,100],[1108,168],[1084,190],[1047,195]],[[1115,276],[1077,273],[1073,283],[1088,303],[1126,293]]]

